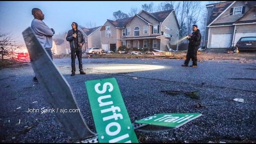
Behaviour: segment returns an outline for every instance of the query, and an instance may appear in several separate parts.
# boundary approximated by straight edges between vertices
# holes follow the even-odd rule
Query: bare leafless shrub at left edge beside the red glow
[[[13,58],[15,56],[15,50],[21,46],[21,44],[15,43],[10,33],[0,34],[0,54],[2,61],[4,58]]]

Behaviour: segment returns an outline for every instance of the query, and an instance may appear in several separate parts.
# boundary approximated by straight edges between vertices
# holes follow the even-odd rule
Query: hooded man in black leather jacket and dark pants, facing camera
[[[68,31],[66,40],[70,42],[70,50],[71,50],[71,67],[72,67],[72,73],[71,76],[74,76],[76,74],[76,66],[75,66],[75,60],[76,56],[79,62],[79,71],[81,75],[84,75],[85,72],[83,71],[83,65],[82,65],[82,46],[84,44],[84,36],[81,31],[79,31],[78,24],[73,22],[71,24],[72,29]]]

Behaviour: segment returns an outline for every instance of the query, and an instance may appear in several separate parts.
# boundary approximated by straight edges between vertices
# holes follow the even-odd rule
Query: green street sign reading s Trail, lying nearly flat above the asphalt
[[[135,121],[135,123],[177,128],[201,115],[201,113],[161,113]]]

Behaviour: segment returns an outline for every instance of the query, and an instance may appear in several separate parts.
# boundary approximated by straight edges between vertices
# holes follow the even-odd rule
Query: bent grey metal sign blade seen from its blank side
[[[55,114],[67,134],[74,141],[83,141],[95,137],[96,134],[87,127],[80,111],[58,112],[58,109],[79,109],[70,85],[63,75],[58,72],[52,59],[41,46],[32,29],[29,27],[22,34],[39,84],[49,92],[49,95],[45,95],[45,98],[53,109],[57,109]]]

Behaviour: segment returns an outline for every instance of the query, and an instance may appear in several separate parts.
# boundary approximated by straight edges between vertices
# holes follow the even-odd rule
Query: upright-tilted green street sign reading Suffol
[[[99,143],[138,143],[115,78],[86,81]]]

